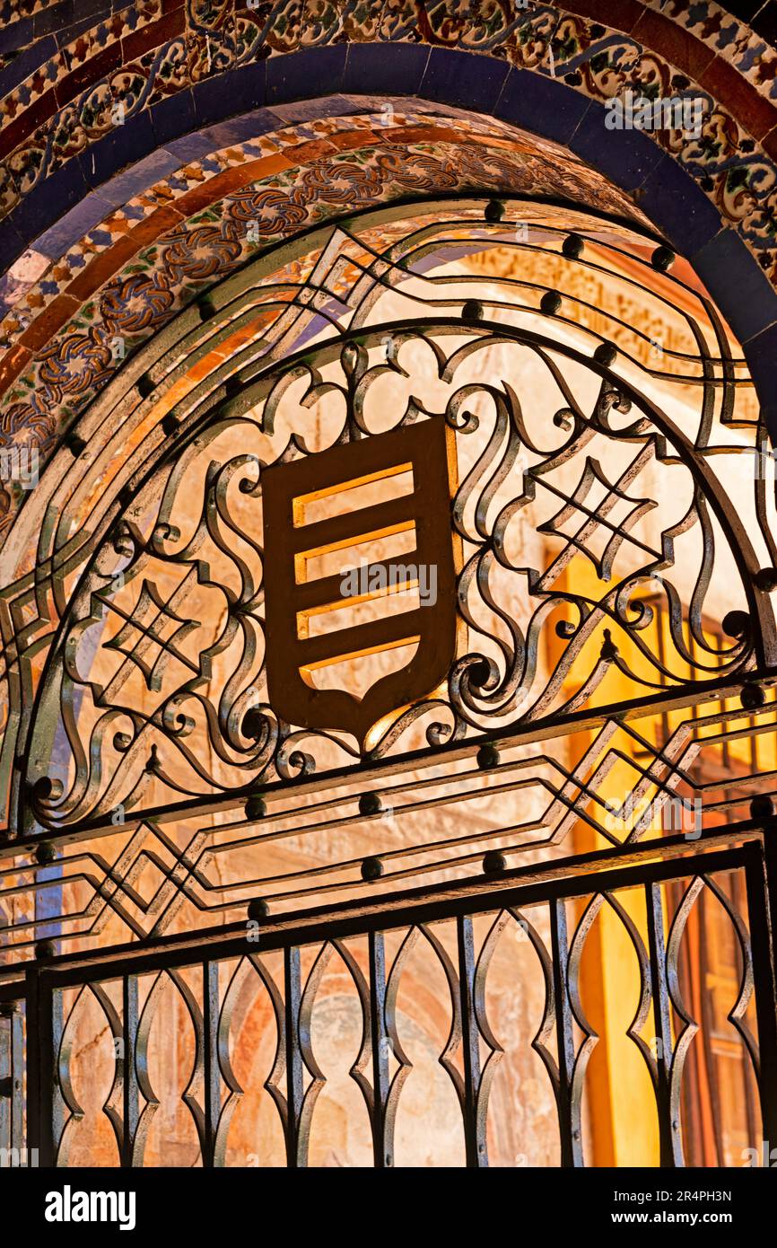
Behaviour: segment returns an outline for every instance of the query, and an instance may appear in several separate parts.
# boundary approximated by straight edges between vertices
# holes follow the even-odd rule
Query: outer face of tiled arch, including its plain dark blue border
[[[577,5],[585,9],[585,15],[543,5],[509,15],[504,5],[481,4],[468,7],[468,16],[458,19],[450,16],[449,6],[419,7],[400,0],[375,6],[321,0],[291,7],[264,4],[254,9],[236,7],[231,0],[220,4],[190,0],[186,12],[177,2],[148,2],[151,7],[142,7],[135,20],[136,26],[138,21],[141,25],[128,34],[123,27],[118,30],[118,17],[112,19],[109,34],[121,35],[118,50],[112,56],[121,55],[126,61],[130,52],[140,52],[141,44],[145,46],[146,41],[153,42],[172,32],[172,40],[165,45],[166,55],[160,60],[155,52],[155,64],[171,64],[167,54],[175,39],[182,39],[188,47],[192,39],[198,46],[197,40],[202,36],[206,41],[216,40],[213,47],[216,44],[226,47],[229,40],[234,44],[236,31],[247,29],[246,22],[261,21],[263,26],[251,55],[246,54],[247,64],[238,64],[241,57],[236,55],[228,71],[215,74],[211,47],[208,72],[195,75],[191,87],[180,84],[176,87],[171,81],[163,99],[155,97],[156,87],[143,89],[137,99],[127,102],[126,125],[113,126],[112,134],[104,139],[99,137],[97,127],[89,145],[92,182],[100,182],[107,171],[118,167],[128,151],[142,154],[155,149],[166,135],[187,131],[192,119],[212,122],[248,104],[266,105],[344,87],[360,92],[395,90],[408,94],[415,90],[434,100],[495,112],[506,121],[523,122],[535,132],[569,145],[629,191],[680,251],[698,260],[700,272],[712,283],[718,302],[730,286],[730,275],[736,273],[741,281],[742,272],[747,271],[745,248],[757,256],[775,281],[777,167],[732,115],[715,109],[711,134],[705,134],[702,144],[688,145],[676,134],[654,139],[639,132],[610,132],[607,144],[601,142],[599,101],[626,84],[646,91],[698,94],[687,76],[677,76],[666,56],[646,50],[650,36],[650,42],[664,45],[667,54],[671,44],[675,60],[688,71],[698,71],[702,82],[712,84],[707,70],[712,74],[717,62],[751,77],[757,71],[757,87],[747,86],[743,107],[750,130],[762,135],[768,146],[773,105],[767,72],[771,61],[767,57],[765,62],[766,45],[753,44],[752,32],[738,22],[732,25],[721,16],[722,10],[710,9],[705,22],[695,6],[688,14],[688,21],[693,17],[693,32],[686,30],[682,39],[670,41],[668,35],[677,34],[676,25],[661,12],[647,16],[630,0],[616,6],[620,25],[631,30],[629,36],[595,20],[601,16],[597,4]],[[676,7],[682,10],[681,5]],[[151,17],[157,20],[151,21]],[[146,19],[147,24],[142,25]],[[175,34],[181,22],[183,31]],[[645,45],[637,41],[639,32],[645,35]],[[703,37],[698,39],[697,34]],[[702,46],[707,49],[705,56],[698,51]],[[293,51],[298,47],[302,50]],[[476,51],[465,51],[471,47]],[[281,55],[289,49],[291,56]],[[11,67],[15,64],[11,61]],[[723,81],[720,66],[715,74]],[[756,115],[753,91],[770,110],[768,117]],[[50,94],[44,92],[44,96]],[[64,99],[61,94],[60,99]],[[715,102],[712,96],[707,100]],[[109,117],[106,126],[111,125]],[[661,144],[668,151],[664,151]],[[55,147],[56,144],[47,141],[46,151],[52,158]],[[82,156],[77,151],[71,156],[50,177],[30,188],[24,202],[6,218],[9,230],[17,225],[24,227],[25,222],[34,230],[41,223],[39,208],[32,202],[36,196],[41,200],[39,192],[46,191],[46,207],[54,205],[56,212],[56,203],[66,206],[69,196],[77,198],[86,190],[90,178],[85,180],[82,171],[79,172]],[[685,178],[681,171],[691,177]],[[60,175],[75,181],[70,187],[60,185]],[[691,178],[701,191],[692,186]],[[731,226],[731,231],[721,235],[721,223]],[[768,283],[761,282],[757,273],[748,275],[745,293],[747,297],[738,298],[736,308],[726,307],[725,298],[722,306],[730,316],[746,313],[745,323],[737,329],[741,341],[748,344],[777,321],[777,311]],[[35,338],[34,342],[39,349],[40,341]],[[770,339],[750,348],[756,369],[771,347]],[[10,359],[6,354],[0,361],[0,377],[9,371],[17,373],[20,366],[19,354]]]

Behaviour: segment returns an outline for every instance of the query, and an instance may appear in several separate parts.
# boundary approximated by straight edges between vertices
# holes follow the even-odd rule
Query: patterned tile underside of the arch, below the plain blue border
[[[579,198],[644,221],[582,162],[565,166],[553,145],[503,136],[495,126],[459,117],[454,127],[444,116],[399,112],[390,127],[374,116],[318,119],[314,126],[313,139],[306,126],[288,127],[215,154],[207,157],[207,180],[202,163],[190,163],[138,197],[146,212],[137,226],[130,203],[113,215],[111,228],[91,231],[54,263],[2,322],[10,347],[0,378],[7,429],[16,436],[35,429],[49,451],[115,371],[113,334],[125,334],[127,349],[135,349],[268,242],[344,206],[451,192],[478,181],[514,193]],[[105,241],[90,245],[104,233]]]

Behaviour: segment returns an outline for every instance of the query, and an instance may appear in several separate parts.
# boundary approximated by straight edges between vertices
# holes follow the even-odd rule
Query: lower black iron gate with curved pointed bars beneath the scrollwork
[[[553,1085],[560,1163],[581,1166],[582,1086],[597,1037],[581,1005],[580,965],[599,909],[610,906],[625,921],[639,960],[639,1010],[629,1035],[654,1086],[661,1164],[682,1166],[681,1085],[697,1023],[680,996],[677,955],[688,912],[703,889],[723,900],[736,926],[742,978],[730,1017],[741,1030],[752,1061],[763,1137],[773,1139],[777,1030],[767,859],[773,860],[775,852],[773,846],[765,846],[765,839],[773,837],[771,821],[766,829],[750,821],[705,835],[691,855],[687,840],[673,836],[659,852],[655,846],[640,846],[627,855],[616,850],[511,871],[498,887],[493,880],[473,879],[422,896],[399,896],[390,907],[369,901],[340,905],[334,911],[313,911],[303,921],[294,916],[264,919],[248,934],[246,925],[241,930],[231,926],[207,938],[173,936],[143,947],[128,945],[56,958],[50,966],[35,963],[26,972],[24,987],[0,988],[2,1052],[12,1087],[1,1147],[16,1149],[21,1159],[27,1148],[30,1158],[35,1156],[42,1166],[67,1164],[69,1131],[82,1111],[70,1083],[71,1017],[64,1008],[64,993],[89,988],[105,1011],[116,1046],[116,1073],[105,1112],[116,1133],[120,1163],[142,1166],[150,1121],[158,1107],[148,1072],[148,1033],[160,985],[170,980],[182,993],[195,1028],[196,1058],[185,1098],[196,1123],[201,1161],[206,1167],[223,1164],[229,1121],[243,1094],[229,1062],[232,1011],[238,986],[252,976],[272,1001],[276,1057],[266,1088],[282,1122],[286,1162],[289,1167],[306,1166],[313,1107],[326,1086],[309,1023],[327,960],[337,951],[353,976],[362,1012],[362,1043],[350,1076],[369,1114],[374,1166],[390,1167],[397,1107],[412,1066],[398,1033],[397,997],[409,951],[417,941],[425,941],[440,961],[450,992],[450,1032],[439,1062],[455,1088],[465,1163],[488,1166],[489,1091],[503,1046],[488,1018],[485,987],[499,936],[505,929],[515,929],[533,946],[544,977],[545,1006],[533,1047]],[[748,922],[722,889],[723,880],[735,875],[745,881]],[[670,881],[681,884],[683,899],[665,935],[662,886]],[[646,943],[621,905],[632,890],[644,895]],[[582,912],[570,922],[577,899],[584,902]],[[486,921],[480,940],[474,934],[479,917]],[[543,920],[549,941],[538,931]],[[388,934],[398,936],[393,957],[387,957]],[[303,951],[312,953],[306,973]],[[272,953],[278,955],[282,966],[279,982],[266,965]],[[198,992],[192,991],[191,980],[182,978],[183,968],[200,981]],[[138,1008],[143,982],[152,987]],[[112,995],[109,985],[116,990]],[[756,1003],[756,1035],[745,1022],[751,996]],[[675,1035],[672,1010],[682,1017]],[[657,1043],[649,1045],[641,1037],[646,1021]],[[22,1033],[29,1055],[26,1099],[21,1093]],[[451,1129],[456,1129],[454,1123]]]

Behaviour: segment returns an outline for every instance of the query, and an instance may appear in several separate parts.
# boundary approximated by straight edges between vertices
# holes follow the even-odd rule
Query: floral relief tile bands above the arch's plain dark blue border
[[[27,7],[21,5],[20,11]],[[733,71],[731,82],[720,70],[713,76],[723,94],[736,92],[740,81],[763,97],[765,105],[768,101],[770,110],[772,101],[777,102],[777,51],[708,0],[646,0],[640,20],[625,21],[635,27],[631,36],[576,16],[574,7],[564,11],[533,2],[530,9],[515,10],[506,0],[432,0],[425,5],[419,0],[261,0],[251,7],[239,0],[187,0],[183,7],[167,0],[140,0],[81,31],[36,65],[0,102],[0,117],[5,120],[0,144],[9,149],[0,165],[0,212],[11,211],[91,144],[171,95],[233,67],[338,42],[427,44],[489,54],[521,69],[561,77],[596,100],[609,99],[626,86],[666,90],[678,76],[671,54],[676,61],[700,67],[705,61],[698,49],[707,49],[710,57]],[[630,6],[620,7],[624,14],[630,11]],[[616,21],[619,6],[609,9]],[[646,21],[646,15],[652,21]],[[650,46],[640,44],[640,31],[650,35]],[[697,49],[693,55],[686,56],[683,39]],[[20,55],[10,66],[20,62]],[[82,90],[76,90],[79,84]],[[692,90],[690,81],[685,90]],[[730,121],[730,112],[722,107],[720,111],[726,119],[720,129],[728,131],[727,162],[737,160],[750,166],[750,185],[762,185],[762,170],[753,168],[752,161],[742,161],[750,154],[738,146],[761,135],[740,131]],[[747,114],[755,116],[752,101]],[[772,119],[767,111],[758,129],[766,132],[775,125],[777,112]],[[676,146],[676,140],[667,142],[672,155],[678,156]],[[698,154],[686,156],[685,163],[703,180],[703,188],[726,215],[727,196],[718,183],[708,186],[716,171],[702,171]],[[731,220],[738,223],[740,217],[735,213]],[[746,237],[752,241],[755,231],[746,232]]]

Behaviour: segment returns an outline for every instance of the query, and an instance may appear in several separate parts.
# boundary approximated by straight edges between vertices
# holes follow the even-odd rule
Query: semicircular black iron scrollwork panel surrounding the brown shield
[[[40,825],[137,807],[152,779],[172,800],[249,792],[257,782],[383,758],[407,748],[417,726],[437,746],[564,720],[597,699],[606,704],[597,690],[611,666],[639,699],[687,683],[688,673],[696,686],[743,676],[760,658],[757,640],[768,644],[771,629],[747,534],[705,457],[649,399],[530,332],[446,319],[390,332],[392,351],[378,359],[382,331],[345,342],[334,359],[328,347],[321,361],[308,356],[264,378],[249,417],[213,419],[117,518],[64,623],[61,666],[45,686],[72,763],[69,780],[34,785]],[[505,379],[466,379],[489,351],[529,361],[543,402]],[[261,523],[262,482],[286,466],[314,466],[327,447],[344,456],[384,436],[387,378],[404,396],[389,426],[395,434],[439,422],[455,443],[448,540],[460,552],[459,644],[444,681],[383,715],[364,745],[337,720],[311,729],[272,704],[264,604],[277,573]],[[440,388],[448,397],[435,407]],[[316,447],[309,409],[324,401]],[[419,466],[417,474],[423,488]],[[662,475],[668,493],[657,484]],[[723,643],[705,626],[716,543],[728,548],[742,603],[732,613],[736,635]],[[687,619],[680,562],[686,583],[693,567]],[[567,577],[572,563],[589,565],[589,592],[585,578]],[[646,640],[646,587],[668,620],[664,655]],[[544,671],[551,645],[556,656]]]

